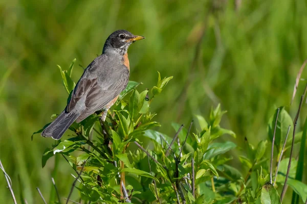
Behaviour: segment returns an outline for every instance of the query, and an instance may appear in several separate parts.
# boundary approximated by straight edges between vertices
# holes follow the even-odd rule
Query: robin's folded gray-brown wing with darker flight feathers
[[[77,102],[82,98],[84,105],[80,111],[78,121],[83,120],[95,111],[103,109],[111,100],[125,89],[129,80],[129,70],[121,67],[118,70],[103,69],[100,63],[93,61],[84,71],[81,79],[77,83],[72,93],[71,100],[67,106],[67,111],[72,111]],[[105,70],[105,73],[97,75],[97,69]],[[84,97],[85,96],[85,97]],[[83,105],[82,103],[82,105]]]

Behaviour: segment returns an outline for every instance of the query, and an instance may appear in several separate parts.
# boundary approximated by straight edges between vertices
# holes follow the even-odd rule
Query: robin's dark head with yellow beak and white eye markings
[[[121,55],[127,53],[128,47],[136,40],[142,40],[145,37],[133,35],[125,30],[113,32],[105,41],[102,53],[116,52]]]

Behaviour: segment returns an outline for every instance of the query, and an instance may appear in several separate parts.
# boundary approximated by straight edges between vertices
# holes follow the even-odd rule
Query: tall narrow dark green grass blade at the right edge
[[[296,169],[296,175],[295,180],[296,181],[302,181],[303,179],[303,173],[304,173],[304,157],[306,154],[305,151],[305,145],[306,145],[306,135],[307,135],[307,118],[305,119],[304,127],[303,127],[303,134],[302,134],[302,140],[300,143],[300,149],[299,149],[299,157],[298,157],[298,164]],[[292,194],[292,203],[299,203],[299,196],[294,191]]]

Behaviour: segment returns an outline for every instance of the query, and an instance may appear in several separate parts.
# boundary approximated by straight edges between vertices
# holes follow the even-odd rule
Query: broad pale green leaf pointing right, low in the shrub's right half
[[[236,144],[230,141],[224,142],[224,143],[212,143],[209,145],[208,148],[211,148],[209,151],[204,154],[203,159],[211,159],[212,157],[215,157],[217,155],[222,155],[225,152],[233,149],[236,147]]]

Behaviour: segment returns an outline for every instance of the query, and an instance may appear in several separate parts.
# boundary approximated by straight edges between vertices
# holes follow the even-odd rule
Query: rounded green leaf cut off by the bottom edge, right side
[[[278,204],[280,197],[272,184],[265,184],[261,189],[261,204]]]

